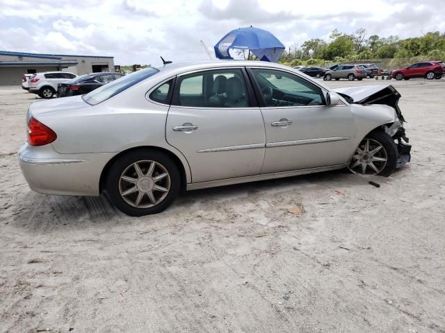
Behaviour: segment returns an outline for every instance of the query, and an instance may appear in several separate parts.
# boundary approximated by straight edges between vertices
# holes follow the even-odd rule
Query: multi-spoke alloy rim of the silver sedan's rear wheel
[[[119,179],[120,196],[136,208],[154,207],[170,191],[170,174],[156,161],[140,160],[130,164]]]

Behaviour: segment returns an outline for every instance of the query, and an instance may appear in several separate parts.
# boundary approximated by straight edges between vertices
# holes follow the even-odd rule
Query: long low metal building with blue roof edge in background
[[[114,71],[113,58],[0,51],[0,85],[20,85],[23,74],[42,71],[70,71],[79,75]]]

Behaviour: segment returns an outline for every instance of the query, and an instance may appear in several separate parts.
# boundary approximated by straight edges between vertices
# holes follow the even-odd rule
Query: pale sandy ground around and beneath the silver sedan
[[[143,218],[30,191],[16,152],[38,99],[1,87],[0,332],[445,332],[445,80],[388,82],[413,151],[380,188],[321,173]]]

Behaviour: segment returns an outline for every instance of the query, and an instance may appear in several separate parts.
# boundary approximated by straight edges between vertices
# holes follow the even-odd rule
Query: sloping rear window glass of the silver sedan
[[[159,69],[154,67],[149,67],[147,69],[142,69],[140,71],[135,71],[126,76],[122,76],[122,78],[118,78],[118,80],[114,80],[111,83],[107,83],[102,87],[99,87],[92,92],[89,92],[86,95],[82,96],[83,101],[90,105],[96,105],[110,99],[111,97],[123,92],[125,89],[131,87],[132,85],[136,85],[140,81],[149,78],[159,72]]]

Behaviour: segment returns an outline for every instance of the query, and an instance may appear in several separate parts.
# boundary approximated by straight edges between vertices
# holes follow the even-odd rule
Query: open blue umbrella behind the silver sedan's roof
[[[215,54],[219,59],[233,59],[229,49],[252,51],[262,61],[277,62],[284,52],[284,45],[266,30],[249,26],[230,31],[216,45]]]

